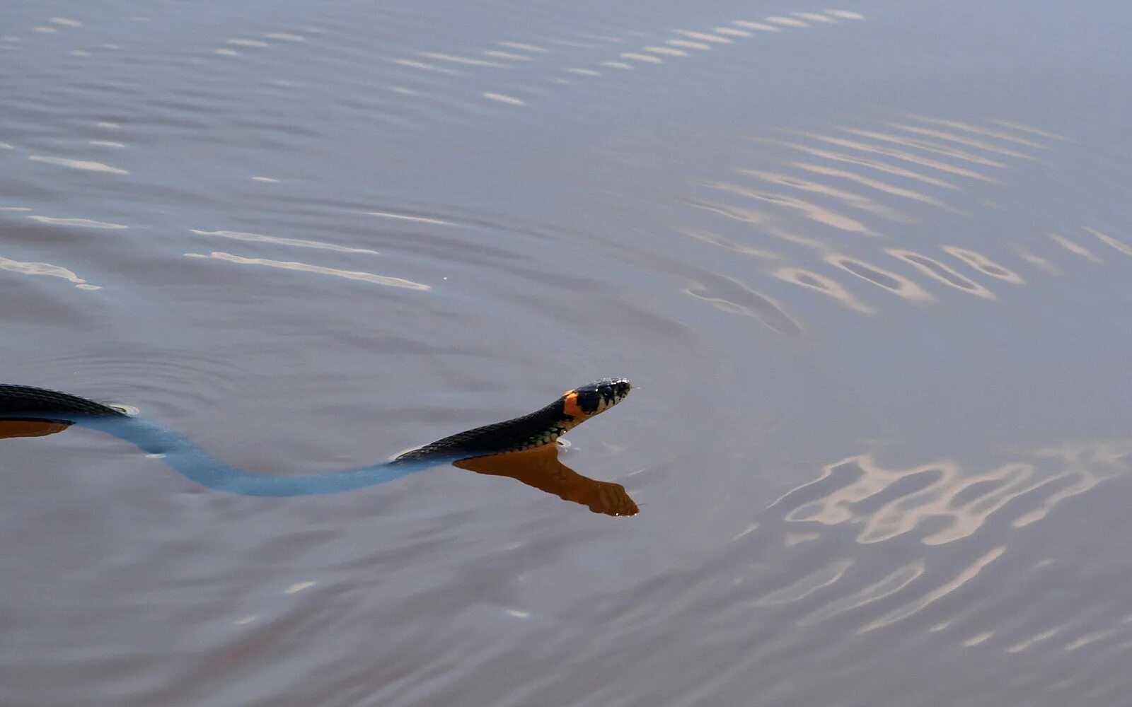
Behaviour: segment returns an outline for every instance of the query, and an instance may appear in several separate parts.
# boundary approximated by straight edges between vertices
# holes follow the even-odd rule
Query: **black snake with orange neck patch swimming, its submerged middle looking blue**
[[[479,457],[547,447],[617,405],[631,389],[624,378],[603,378],[573,388],[533,413],[496,422],[410,449],[357,469],[276,475],[248,472],[212,456],[187,437],[132,414],[129,408],[37,388],[0,383],[0,420],[77,425],[126,440],[198,484],[242,495],[297,497],[341,493],[400,478],[415,471]]]

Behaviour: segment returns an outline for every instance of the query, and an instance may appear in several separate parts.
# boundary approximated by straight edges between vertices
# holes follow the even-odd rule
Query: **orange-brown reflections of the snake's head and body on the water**
[[[46,437],[62,432],[69,426],[69,423],[57,421],[0,420],[0,439]],[[578,474],[561,463],[558,451],[559,446],[550,443],[523,451],[456,459],[452,464],[477,474],[509,476],[539,491],[557,495],[564,501],[581,503],[595,514],[607,516],[637,514],[637,505],[626,493],[625,486]]]

